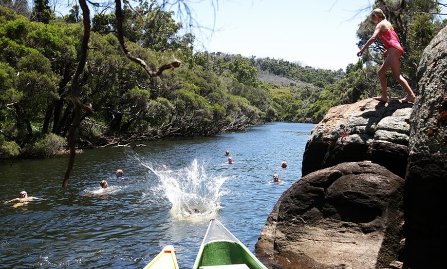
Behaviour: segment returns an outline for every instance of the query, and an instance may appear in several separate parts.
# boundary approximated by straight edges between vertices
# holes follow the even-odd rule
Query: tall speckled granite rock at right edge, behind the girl
[[[447,268],[447,27],[418,69],[405,178],[406,268]]]

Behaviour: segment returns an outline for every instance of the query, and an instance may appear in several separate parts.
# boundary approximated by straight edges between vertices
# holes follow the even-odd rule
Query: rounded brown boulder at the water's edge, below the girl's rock
[[[387,265],[403,238],[403,184],[368,161],[313,172],[278,200],[255,251],[289,269]]]

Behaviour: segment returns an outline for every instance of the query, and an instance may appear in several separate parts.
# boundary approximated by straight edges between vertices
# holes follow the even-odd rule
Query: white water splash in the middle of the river
[[[180,170],[156,170],[145,165],[160,180],[160,187],[172,203],[171,214],[177,218],[212,217],[221,208],[224,195],[222,184],[229,179],[222,175],[208,175],[206,165],[196,159],[191,166]]]

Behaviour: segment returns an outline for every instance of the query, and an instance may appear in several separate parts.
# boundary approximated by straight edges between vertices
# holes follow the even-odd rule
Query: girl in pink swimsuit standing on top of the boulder
[[[385,14],[380,8],[376,8],[370,14],[371,21],[376,25],[373,35],[369,38],[366,44],[357,53],[357,56],[362,55],[363,51],[373,44],[379,36],[385,45],[386,50],[383,52],[385,61],[379,69],[378,75],[380,79],[380,86],[382,88],[382,95],[380,97],[373,97],[375,100],[388,102],[388,92],[386,91],[386,71],[391,69],[393,77],[399,82],[402,88],[405,90],[406,95],[400,101],[402,103],[414,102],[416,95],[414,94],[408,82],[400,74],[400,57],[403,54],[403,48],[399,43],[399,37],[393,29],[393,25],[390,24],[385,17]]]

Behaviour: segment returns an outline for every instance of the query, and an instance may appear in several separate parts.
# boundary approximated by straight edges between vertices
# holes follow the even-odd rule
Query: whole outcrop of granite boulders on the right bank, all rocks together
[[[418,76],[414,106],[330,109],[306,145],[303,178],[267,219],[259,256],[288,269],[446,267],[447,28]]]

